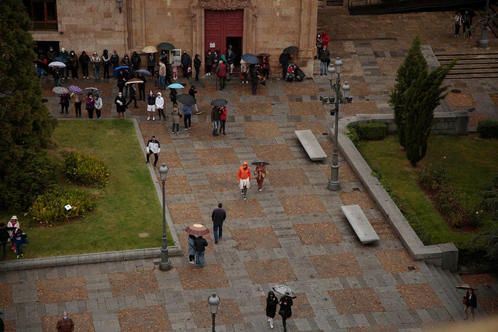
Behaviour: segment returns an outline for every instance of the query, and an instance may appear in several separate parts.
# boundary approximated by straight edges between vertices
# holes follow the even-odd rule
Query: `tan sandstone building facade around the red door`
[[[281,72],[283,48],[298,46],[295,62],[312,76],[317,7],[318,0],[124,0],[120,13],[114,0],[57,0],[58,31],[32,35],[78,54],[116,49],[121,57],[170,42],[204,62],[204,8],[243,8],[244,53],[269,53],[271,75]]]

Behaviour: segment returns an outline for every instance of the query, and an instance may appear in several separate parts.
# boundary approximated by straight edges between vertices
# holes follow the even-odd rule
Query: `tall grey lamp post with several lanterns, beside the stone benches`
[[[335,67],[334,67],[335,66]],[[321,97],[321,100],[324,105],[327,104],[327,100],[329,104],[334,103],[335,101],[335,109],[330,111],[330,115],[335,115],[335,125],[334,125],[334,151],[332,154],[332,166],[330,167],[330,180],[328,188],[330,190],[339,190],[341,188],[341,182],[339,181],[339,104],[351,103],[353,100],[352,97],[349,97],[349,93],[351,90],[348,82],[342,86],[341,92],[341,72],[342,72],[343,62],[341,58],[337,57],[337,60],[334,62],[334,65],[330,65],[327,69],[327,78],[330,81],[330,88],[336,93],[336,97]],[[336,76],[337,74],[337,76]],[[334,82],[336,79],[336,82]]]

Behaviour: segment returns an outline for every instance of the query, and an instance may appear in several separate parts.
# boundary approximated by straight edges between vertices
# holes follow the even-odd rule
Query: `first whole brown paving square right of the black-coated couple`
[[[373,288],[352,288],[329,291],[341,315],[385,311]]]

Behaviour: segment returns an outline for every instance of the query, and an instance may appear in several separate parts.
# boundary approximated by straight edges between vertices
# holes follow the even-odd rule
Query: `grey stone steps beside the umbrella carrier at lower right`
[[[465,291],[455,288],[457,285],[464,284],[458,273],[452,273],[449,270],[443,270],[440,267],[435,267],[432,264],[424,262],[417,262],[417,265],[427,282],[436,290],[436,295],[452,319],[454,321],[462,321],[465,317],[462,304]],[[479,300],[479,291],[476,294]],[[470,310],[468,314],[471,317]],[[488,314],[486,314],[478,303],[476,319],[479,317],[488,317]]]

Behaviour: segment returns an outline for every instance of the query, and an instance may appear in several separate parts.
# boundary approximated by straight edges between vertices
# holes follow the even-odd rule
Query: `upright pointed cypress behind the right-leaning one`
[[[408,54],[396,73],[396,84],[394,90],[389,95],[389,104],[394,110],[394,123],[398,134],[399,144],[405,147],[405,126],[403,114],[406,111],[405,91],[415,82],[419,75],[427,73],[427,63],[420,51],[420,35],[413,39]]]

